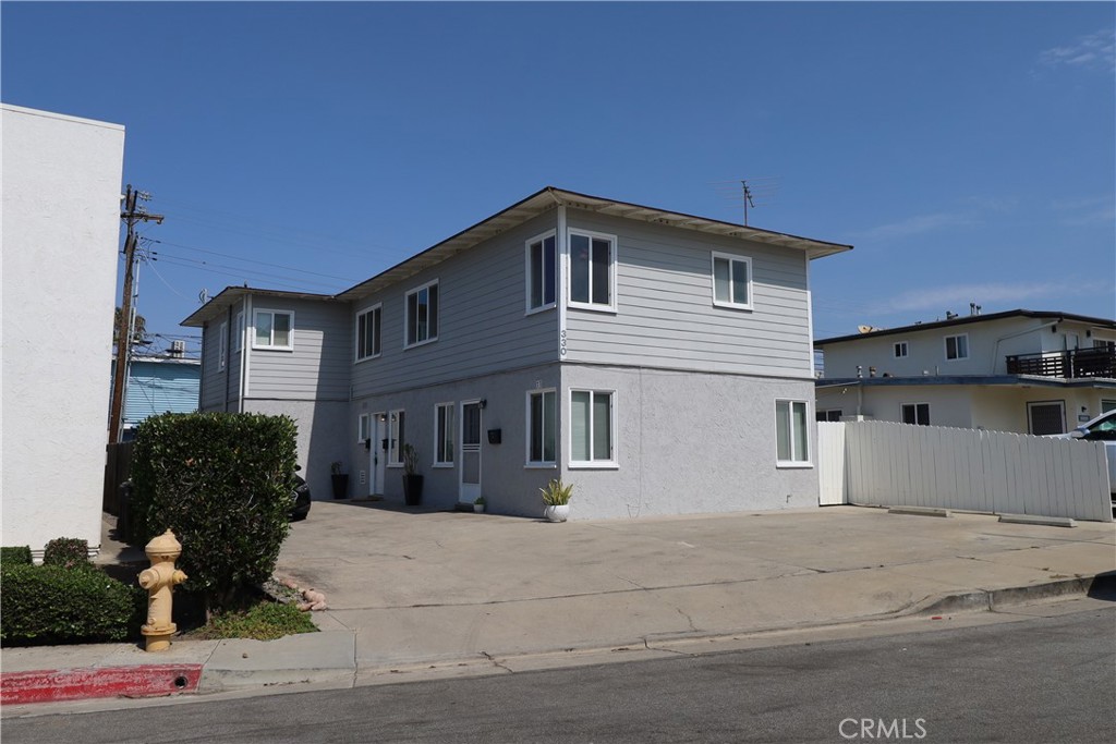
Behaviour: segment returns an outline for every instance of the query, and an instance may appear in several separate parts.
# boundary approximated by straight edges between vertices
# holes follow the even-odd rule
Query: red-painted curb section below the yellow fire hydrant
[[[201,676],[201,664],[10,671],[0,674],[0,704],[192,693],[198,689]]]

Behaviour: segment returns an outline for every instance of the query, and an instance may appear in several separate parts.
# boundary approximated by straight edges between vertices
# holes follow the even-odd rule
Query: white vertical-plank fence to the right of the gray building
[[[887,422],[818,424],[819,502],[1113,521],[1098,442]]]

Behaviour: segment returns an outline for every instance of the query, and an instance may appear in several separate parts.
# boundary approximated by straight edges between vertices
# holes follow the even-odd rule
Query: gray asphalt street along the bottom
[[[6,744],[1107,743],[1116,731],[1109,600],[936,632],[13,718],[2,736]]]

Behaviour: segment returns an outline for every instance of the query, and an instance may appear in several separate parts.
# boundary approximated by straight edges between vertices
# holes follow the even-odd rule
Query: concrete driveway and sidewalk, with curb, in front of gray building
[[[104,559],[136,558],[106,548]],[[315,502],[276,572],[325,592],[323,632],[176,641],[163,654],[6,648],[3,703],[352,686],[989,610],[1113,581],[1116,525],[855,506],[550,524]]]

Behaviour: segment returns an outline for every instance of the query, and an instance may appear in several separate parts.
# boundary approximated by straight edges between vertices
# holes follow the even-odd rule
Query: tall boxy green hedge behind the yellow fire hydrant
[[[271,576],[290,526],[295,422],[259,414],[164,414],[132,454],[133,542],[170,529],[183,589],[220,608]]]

